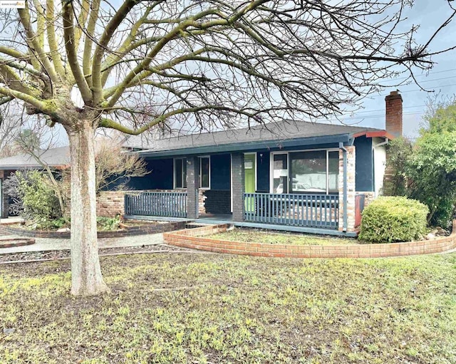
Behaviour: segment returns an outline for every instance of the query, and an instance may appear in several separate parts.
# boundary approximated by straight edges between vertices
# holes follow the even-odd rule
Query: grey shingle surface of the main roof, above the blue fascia
[[[382,129],[284,120],[277,123],[258,125],[252,128],[242,128],[219,132],[204,132],[200,134],[154,140],[151,143],[149,149],[142,152],[164,152],[167,150],[179,150],[191,147],[204,147],[211,145],[215,146],[242,142],[247,143],[272,140],[281,141],[292,140],[296,138],[321,137],[379,130]]]

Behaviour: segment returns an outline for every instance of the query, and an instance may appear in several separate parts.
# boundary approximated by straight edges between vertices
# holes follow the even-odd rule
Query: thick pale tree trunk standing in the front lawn
[[[109,291],[98,258],[94,129],[83,120],[67,130],[71,155],[71,293]]]

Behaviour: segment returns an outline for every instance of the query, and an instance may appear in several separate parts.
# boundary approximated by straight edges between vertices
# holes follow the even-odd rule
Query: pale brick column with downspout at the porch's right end
[[[345,147],[347,150],[347,196],[343,194],[343,150],[339,150],[339,217],[338,230],[343,231],[343,212],[344,205],[347,207],[347,232],[353,232],[355,229],[355,194],[356,194],[356,147],[354,145]]]

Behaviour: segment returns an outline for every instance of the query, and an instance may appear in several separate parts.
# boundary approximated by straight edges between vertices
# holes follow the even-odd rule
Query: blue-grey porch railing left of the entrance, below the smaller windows
[[[187,217],[187,192],[139,192],[125,194],[125,214]]]

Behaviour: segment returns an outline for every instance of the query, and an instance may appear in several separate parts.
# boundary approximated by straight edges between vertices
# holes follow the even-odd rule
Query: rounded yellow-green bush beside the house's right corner
[[[378,197],[363,211],[358,239],[394,243],[420,239],[426,232],[429,209],[406,197]]]

